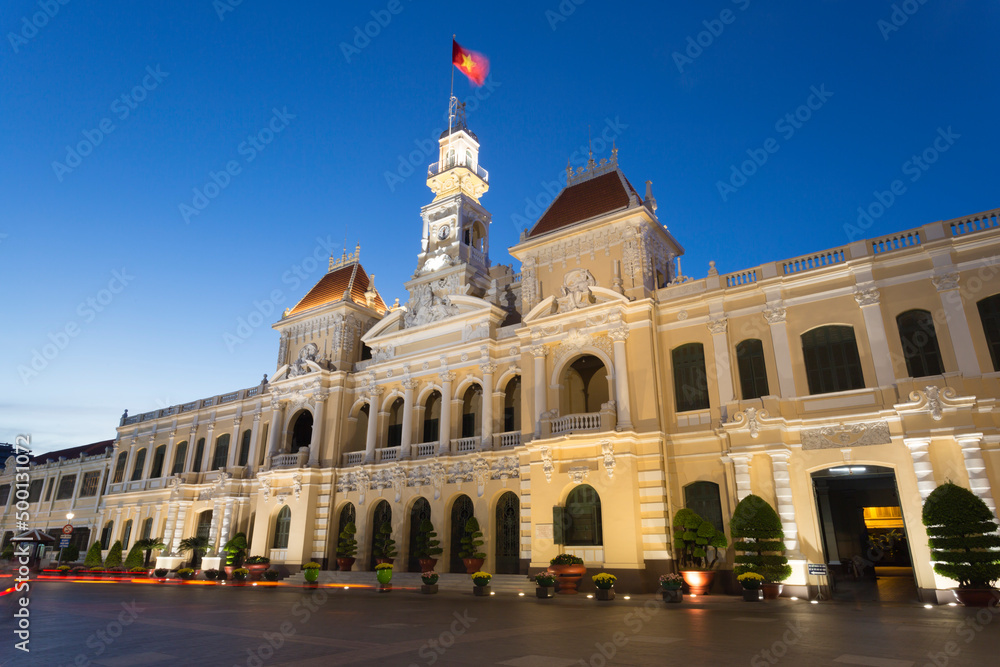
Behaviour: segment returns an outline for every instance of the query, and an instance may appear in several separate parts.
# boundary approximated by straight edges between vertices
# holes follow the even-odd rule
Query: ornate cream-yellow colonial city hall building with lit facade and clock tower
[[[37,457],[31,527],[72,511],[81,549],[162,537],[161,567],[185,560],[185,537],[208,537],[212,558],[243,531],[296,572],[336,568],[348,521],[369,569],[389,521],[412,570],[429,517],[437,569],[464,572],[475,516],[489,572],[568,552],[652,590],[675,569],[678,509],[728,529],[755,493],[781,518],[786,594],[818,583],[808,564],[865,557],[880,530],[902,536],[915,595],[952,586],[921,505],[950,479],[995,511],[1000,211],[696,280],[678,275],[651,187],[613,155],[567,171],[509,249],[516,273],[491,259],[479,148],[461,118],[440,138],[405,305],[383,302],[359,252],[331,258],[273,325],[269,380]],[[13,512],[2,521],[7,542]]]

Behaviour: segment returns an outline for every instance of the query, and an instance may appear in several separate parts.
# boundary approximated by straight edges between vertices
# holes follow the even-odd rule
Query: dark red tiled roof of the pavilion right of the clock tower
[[[638,194],[618,170],[595,176],[565,188],[535,223],[528,238],[541,236],[583,220],[625,208],[629,195]]]

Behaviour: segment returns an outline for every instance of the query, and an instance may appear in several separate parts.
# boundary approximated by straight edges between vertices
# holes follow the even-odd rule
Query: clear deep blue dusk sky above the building
[[[345,237],[405,302],[452,33],[495,263],[588,126],[696,278],[1000,205],[996,3],[233,3],[0,9],[0,441],[257,384]]]

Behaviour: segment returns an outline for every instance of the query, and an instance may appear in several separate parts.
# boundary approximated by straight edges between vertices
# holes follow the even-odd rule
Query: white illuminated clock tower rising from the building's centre
[[[438,161],[427,170],[434,193],[420,210],[423,236],[410,292],[407,326],[426,324],[428,315],[446,317],[448,296],[481,297],[490,286],[489,211],[479,198],[489,189],[489,174],[479,164],[479,139],[465,123],[465,105],[452,98],[449,128],[438,140]],[[435,306],[426,308],[427,304]]]

